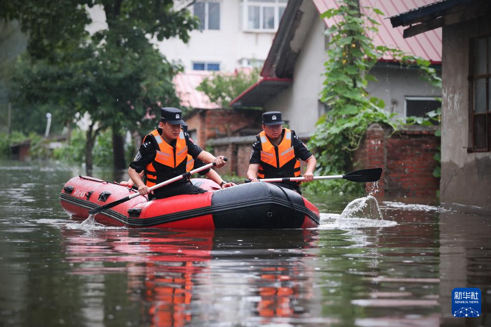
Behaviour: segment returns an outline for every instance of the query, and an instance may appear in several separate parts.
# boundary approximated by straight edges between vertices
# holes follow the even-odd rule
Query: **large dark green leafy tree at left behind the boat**
[[[104,10],[108,28],[89,35],[87,7],[94,5]],[[114,165],[124,168],[122,130],[143,127],[158,102],[178,105],[172,77],[180,67],[151,40],[187,42],[198,27],[172,0],[2,1],[0,18],[19,20],[29,34],[28,55],[18,64],[19,101],[50,104],[67,118],[90,115],[88,170],[100,130],[112,128]]]

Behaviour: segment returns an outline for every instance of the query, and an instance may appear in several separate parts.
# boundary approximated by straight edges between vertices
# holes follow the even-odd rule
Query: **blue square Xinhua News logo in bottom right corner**
[[[477,287],[456,287],[452,290],[452,315],[454,317],[479,317],[481,315],[481,290]]]

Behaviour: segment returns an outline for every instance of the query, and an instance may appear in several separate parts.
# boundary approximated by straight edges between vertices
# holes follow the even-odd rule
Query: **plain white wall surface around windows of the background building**
[[[242,1],[219,2],[220,30],[193,30],[187,44],[178,38],[157,41],[160,52],[181,60],[185,70],[192,69],[193,61],[219,62],[220,70],[233,71],[242,58],[265,60],[275,33],[244,31]]]

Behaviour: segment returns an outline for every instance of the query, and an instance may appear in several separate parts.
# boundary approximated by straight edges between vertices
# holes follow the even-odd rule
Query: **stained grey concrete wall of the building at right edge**
[[[467,152],[469,38],[491,33],[491,15],[443,28],[440,201],[491,210],[491,152]]]

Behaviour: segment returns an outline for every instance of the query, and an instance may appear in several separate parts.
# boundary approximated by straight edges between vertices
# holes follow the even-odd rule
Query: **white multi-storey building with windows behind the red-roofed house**
[[[156,42],[167,59],[188,70],[233,71],[262,66],[287,0],[197,1],[189,7],[201,21],[187,44],[179,38]],[[176,1],[176,8],[189,1]]]

